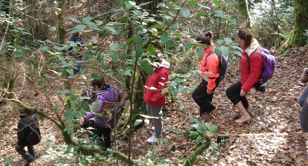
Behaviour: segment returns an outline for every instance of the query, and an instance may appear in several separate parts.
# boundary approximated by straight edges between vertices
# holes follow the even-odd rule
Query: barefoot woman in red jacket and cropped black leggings
[[[260,44],[256,39],[253,39],[253,35],[248,29],[241,29],[238,32],[238,39],[240,43],[244,45],[242,47],[243,57],[240,58],[241,80],[231,85],[226,90],[226,95],[241,113],[241,118],[237,119],[236,123],[244,123],[251,119],[247,113],[247,92],[249,92],[253,87],[261,92],[266,91],[266,89],[265,87],[260,87],[259,79],[263,68],[262,56],[258,53],[253,53],[256,49],[260,50]],[[248,68],[248,58],[250,69]]]

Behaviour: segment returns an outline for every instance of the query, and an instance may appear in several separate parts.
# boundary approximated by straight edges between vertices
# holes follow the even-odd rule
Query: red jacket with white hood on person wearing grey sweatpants
[[[167,93],[162,96],[161,92],[162,89],[167,87],[169,67],[170,64],[163,59],[159,68],[155,69],[145,82],[146,87],[144,87],[143,100],[150,106],[164,106],[166,104]],[[157,90],[149,89],[151,87]]]

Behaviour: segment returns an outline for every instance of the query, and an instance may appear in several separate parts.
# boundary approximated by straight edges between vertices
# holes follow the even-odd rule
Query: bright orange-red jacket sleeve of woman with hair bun
[[[207,85],[207,88],[209,90],[213,90],[216,87],[216,79],[219,77],[218,73],[218,66],[219,66],[219,59],[217,55],[210,55],[206,60],[206,65],[208,68],[208,71],[211,72],[211,74],[207,75],[209,82]]]

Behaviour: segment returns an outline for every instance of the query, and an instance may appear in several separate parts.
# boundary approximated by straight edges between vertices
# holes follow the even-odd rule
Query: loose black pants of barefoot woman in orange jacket
[[[218,86],[220,81],[220,78],[217,78],[215,80],[216,87]],[[212,104],[213,94],[208,95],[206,93],[208,82],[206,82],[204,79],[202,79],[202,82],[198,85],[198,87],[193,91],[193,100],[198,104],[200,107],[200,116],[207,113],[210,113],[212,110],[214,110],[216,107]],[[216,88],[215,87],[215,88]],[[215,90],[213,89],[213,91]]]

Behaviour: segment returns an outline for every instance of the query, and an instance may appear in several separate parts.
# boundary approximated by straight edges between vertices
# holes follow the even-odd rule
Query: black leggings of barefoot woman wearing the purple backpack
[[[226,95],[228,96],[229,100],[236,105],[237,103],[239,103],[240,101],[243,103],[243,106],[245,109],[248,108],[248,101],[246,98],[246,95],[241,97],[240,93],[241,93],[241,81],[231,85],[227,90],[226,90]],[[257,90],[260,91],[260,82],[257,82],[253,85],[253,87]]]

